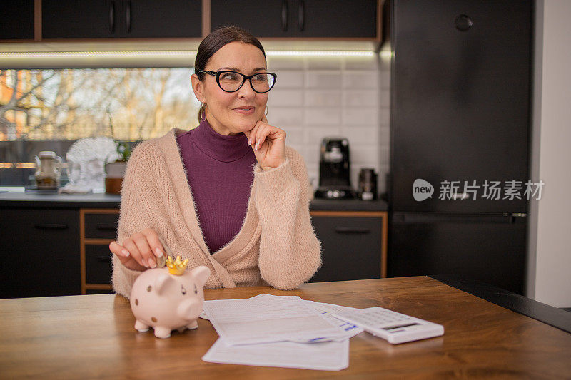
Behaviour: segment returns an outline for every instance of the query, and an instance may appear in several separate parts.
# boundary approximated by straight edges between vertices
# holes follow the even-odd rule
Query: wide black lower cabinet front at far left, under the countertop
[[[79,212],[0,212],[0,298],[80,294]]]

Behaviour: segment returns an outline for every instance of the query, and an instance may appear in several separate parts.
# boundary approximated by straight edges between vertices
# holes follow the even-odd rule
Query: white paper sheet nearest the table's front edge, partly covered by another
[[[349,366],[349,340],[228,346],[219,338],[202,359],[211,363],[339,371]]]

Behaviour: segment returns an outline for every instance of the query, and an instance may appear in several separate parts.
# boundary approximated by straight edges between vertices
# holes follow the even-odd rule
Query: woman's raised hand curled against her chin
[[[285,130],[269,125],[266,116],[244,134],[262,170],[278,168],[285,162]]]

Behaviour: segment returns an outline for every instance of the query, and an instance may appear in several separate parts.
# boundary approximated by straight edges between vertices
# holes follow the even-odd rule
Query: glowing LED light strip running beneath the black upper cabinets
[[[375,56],[373,51],[266,51],[267,56]],[[14,57],[14,58],[64,58],[64,57],[143,57],[143,56],[180,56],[190,57],[196,56],[196,51],[193,50],[154,50],[154,51],[3,51],[0,52],[0,58]]]

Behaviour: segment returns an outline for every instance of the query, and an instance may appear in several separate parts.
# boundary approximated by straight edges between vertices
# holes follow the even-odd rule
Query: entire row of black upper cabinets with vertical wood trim
[[[20,0],[1,7],[0,41],[198,40],[238,25],[277,41],[380,42],[383,0]],[[35,18],[34,18],[35,16]],[[34,39],[35,37],[35,39]],[[174,40],[173,40],[174,41]]]

